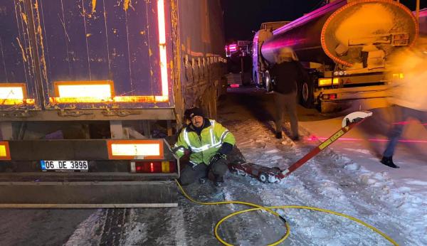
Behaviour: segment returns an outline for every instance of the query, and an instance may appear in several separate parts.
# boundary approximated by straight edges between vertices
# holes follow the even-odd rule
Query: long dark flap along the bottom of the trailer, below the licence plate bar
[[[0,182],[0,208],[176,207],[175,181]]]

